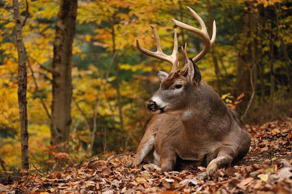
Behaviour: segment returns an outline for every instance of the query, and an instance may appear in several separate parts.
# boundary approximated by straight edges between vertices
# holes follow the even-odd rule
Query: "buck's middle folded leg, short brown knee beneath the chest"
[[[176,153],[173,149],[163,151],[161,154],[161,171],[169,172],[174,169],[176,162]]]

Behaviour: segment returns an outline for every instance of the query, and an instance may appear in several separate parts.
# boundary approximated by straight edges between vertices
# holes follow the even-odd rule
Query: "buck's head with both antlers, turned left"
[[[141,47],[138,40],[136,40],[137,47],[142,53],[164,61],[168,61],[172,64],[170,73],[164,71],[157,72],[157,75],[161,80],[160,88],[153,95],[152,99],[147,105],[148,109],[154,114],[179,114],[187,110],[188,106],[201,98],[202,95],[200,94],[204,92],[204,89],[200,87],[201,73],[195,62],[199,61],[204,55],[206,55],[213,46],[216,38],[216,25],[214,21],[212,38],[210,40],[203,20],[197,15],[195,11],[189,7],[187,8],[199,22],[202,29],[199,30],[176,20],[173,20],[173,22],[178,27],[199,35],[204,40],[205,46],[197,56],[194,58],[188,58],[186,51],[187,44],[185,44],[185,46],[182,47],[185,65],[181,70],[178,70],[179,59],[176,30],[174,32],[174,48],[171,55],[166,55],[163,53],[159,35],[153,26],[151,26],[151,28],[153,29],[153,34],[157,43],[156,52]]]

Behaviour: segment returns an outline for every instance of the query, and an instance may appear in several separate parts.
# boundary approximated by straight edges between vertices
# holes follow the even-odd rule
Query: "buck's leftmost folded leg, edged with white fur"
[[[146,130],[134,159],[134,166],[138,167],[143,159],[154,149],[155,136],[151,129]]]

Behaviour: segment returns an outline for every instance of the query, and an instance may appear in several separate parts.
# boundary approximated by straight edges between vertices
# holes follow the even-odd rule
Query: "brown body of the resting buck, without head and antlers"
[[[214,171],[217,167],[224,167],[224,164],[241,160],[248,152],[250,137],[237,113],[227,107],[205,82],[201,82],[200,90],[202,95],[197,98],[202,100],[192,101],[196,103],[189,110],[176,115],[154,116],[143,137],[144,141],[149,135],[155,138],[153,148],[148,150],[148,157],[145,158],[147,162],[162,165],[163,171],[182,170],[189,165],[207,167],[219,152],[226,154],[228,157],[222,160],[222,164],[216,164],[212,169]],[[195,96],[198,92],[190,92],[189,95]],[[144,144],[140,144],[136,163],[144,159],[140,157],[143,149]],[[155,159],[154,152],[160,160]],[[163,161],[166,162],[164,168],[161,159],[167,160]]]

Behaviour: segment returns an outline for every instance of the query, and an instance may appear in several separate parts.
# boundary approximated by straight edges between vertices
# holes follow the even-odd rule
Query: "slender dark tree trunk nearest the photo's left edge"
[[[29,169],[28,156],[28,124],[27,124],[27,69],[26,69],[26,52],[22,39],[22,22],[19,11],[18,0],[13,0],[15,34],[18,53],[18,106],[20,116],[20,135],[21,135],[21,162],[22,168]]]

